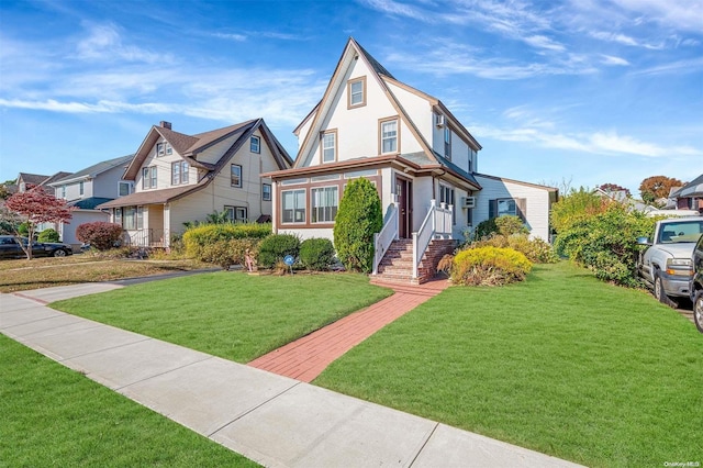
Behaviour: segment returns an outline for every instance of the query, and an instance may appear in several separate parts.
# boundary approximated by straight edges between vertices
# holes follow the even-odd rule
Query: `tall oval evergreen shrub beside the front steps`
[[[334,222],[334,246],[344,267],[371,271],[373,234],[383,227],[381,199],[376,187],[365,178],[347,185]]]

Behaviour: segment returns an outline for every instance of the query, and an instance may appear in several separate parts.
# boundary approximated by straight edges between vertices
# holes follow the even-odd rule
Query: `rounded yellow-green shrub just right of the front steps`
[[[468,248],[454,257],[451,281],[465,286],[501,286],[522,281],[531,269],[527,257],[512,248]]]

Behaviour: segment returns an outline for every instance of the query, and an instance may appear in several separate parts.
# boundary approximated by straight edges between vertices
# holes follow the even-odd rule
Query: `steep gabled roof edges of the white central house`
[[[383,93],[387,96],[387,98],[389,99],[391,105],[398,112],[399,119],[405,124],[405,126],[408,126],[410,129],[410,131],[413,134],[413,136],[420,143],[420,146],[422,147],[423,152],[427,156],[427,159],[428,159],[427,164],[428,165],[438,164],[438,165],[442,165],[442,166],[447,166],[446,163],[448,160],[445,159],[445,158],[437,158],[436,157],[437,155],[432,149],[432,145],[425,140],[423,134],[420,132],[420,130],[417,129],[417,126],[415,125],[413,120],[410,118],[410,115],[408,114],[408,112],[405,111],[403,105],[401,104],[401,102],[398,99],[398,97],[390,89],[389,83],[402,87],[403,89],[406,89],[410,92],[413,92],[413,93],[422,97],[423,99],[426,99],[433,107],[442,109],[443,113],[445,113],[447,115],[447,118],[450,120],[450,122],[453,123],[451,126],[458,133],[460,133],[467,141],[471,142],[471,144],[473,146],[476,146],[477,149],[481,149],[481,145],[479,145],[479,143],[476,141],[476,138],[473,138],[473,136],[469,133],[469,131],[466,130],[466,127],[464,127],[464,125],[451,114],[451,112],[449,112],[449,110],[438,99],[433,98],[429,94],[426,94],[426,93],[424,93],[422,91],[419,91],[419,90],[416,90],[416,89],[414,89],[414,88],[412,88],[412,87],[410,87],[410,86],[397,80],[390,74],[390,71],[388,71],[388,69],[386,69],[376,58],[373,58],[364,47],[361,47],[354,40],[354,37],[349,37],[349,40],[347,41],[347,44],[346,44],[346,46],[344,48],[344,52],[342,53],[342,56],[339,57],[339,60],[337,62],[337,66],[335,67],[335,70],[334,70],[334,73],[332,75],[332,78],[330,79],[330,82],[327,83],[327,88],[325,89],[325,93],[324,93],[322,100],[303,119],[303,121],[295,127],[295,130],[293,132],[293,133],[299,132],[300,129],[302,127],[302,125],[305,124],[312,118],[312,123],[311,123],[310,130],[308,131],[308,134],[305,135],[305,138],[303,140],[302,144],[300,145],[298,157],[295,158],[295,165],[294,165],[295,168],[301,167],[301,165],[305,163],[305,159],[304,159],[303,155],[308,155],[312,151],[312,145],[314,143],[313,138],[315,137],[315,135],[317,135],[323,130],[322,129],[323,119],[324,119],[324,116],[326,115],[327,112],[331,112],[332,105],[333,105],[333,101],[334,101],[334,97],[339,92],[341,87],[344,86],[343,78],[345,76],[346,69],[349,66],[352,66],[353,60],[356,59],[356,58],[364,60],[366,63],[367,67],[369,68],[369,70],[371,70],[371,75],[372,75],[371,78],[376,80],[376,82],[379,85],[379,87],[381,88]],[[456,168],[456,166],[455,166],[455,168]],[[453,168],[453,170],[454,170],[454,168]],[[467,179],[467,181],[470,182],[470,183],[476,185],[477,187],[480,187],[480,186],[478,186],[478,183],[476,182],[476,180],[472,177],[469,177]]]

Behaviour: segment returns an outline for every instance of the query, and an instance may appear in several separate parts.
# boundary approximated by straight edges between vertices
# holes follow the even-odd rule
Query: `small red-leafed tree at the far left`
[[[42,187],[14,193],[5,200],[4,205],[8,210],[20,214],[27,223],[29,242],[26,245],[20,243],[20,246],[29,260],[32,259],[32,241],[37,224],[67,222],[72,218],[71,208],[66,201],[46,193]]]

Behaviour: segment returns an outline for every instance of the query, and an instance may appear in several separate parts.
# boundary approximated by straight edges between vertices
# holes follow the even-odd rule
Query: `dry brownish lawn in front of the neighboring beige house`
[[[62,258],[2,260],[0,261],[0,292],[112,281],[209,267],[211,268],[212,265],[189,259],[165,261],[104,259],[88,254]]]

